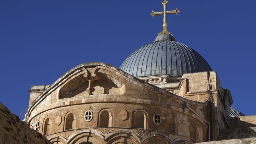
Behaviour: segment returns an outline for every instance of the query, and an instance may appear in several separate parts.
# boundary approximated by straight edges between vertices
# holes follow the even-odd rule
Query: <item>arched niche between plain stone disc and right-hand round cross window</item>
[[[132,127],[133,128],[144,128],[147,126],[147,115],[143,110],[136,110],[133,114]]]

